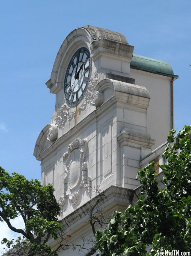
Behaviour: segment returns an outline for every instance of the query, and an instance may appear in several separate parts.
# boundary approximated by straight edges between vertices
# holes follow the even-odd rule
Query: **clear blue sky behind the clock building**
[[[40,179],[33,150],[55,105],[45,82],[65,37],[84,25],[121,32],[135,54],[170,63],[175,127],[191,124],[190,14],[190,0],[1,0],[0,165]]]

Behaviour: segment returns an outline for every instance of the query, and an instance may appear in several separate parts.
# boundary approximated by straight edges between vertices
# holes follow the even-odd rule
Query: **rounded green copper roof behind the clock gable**
[[[130,66],[134,69],[143,70],[154,74],[160,74],[167,77],[179,77],[174,75],[171,66],[167,62],[163,62],[157,59],[150,59],[136,54],[133,54]]]

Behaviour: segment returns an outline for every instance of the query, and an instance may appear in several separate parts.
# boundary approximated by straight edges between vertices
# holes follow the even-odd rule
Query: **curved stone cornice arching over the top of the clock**
[[[66,37],[57,53],[51,78],[46,82],[51,93],[57,93],[62,89],[63,70],[66,68],[67,56],[70,56],[74,49],[83,46],[89,48],[91,55],[93,51],[95,51],[94,55],[97,55],[100,50],[101,52],[109,50],[110,53],[113,50],[113,54],[121,51],[125,56],[126,52],[127,55],[130,54],[128,57],[132,58],[133,46],[129,46],[125,36],[121,33],[90,25],[76,28]]]

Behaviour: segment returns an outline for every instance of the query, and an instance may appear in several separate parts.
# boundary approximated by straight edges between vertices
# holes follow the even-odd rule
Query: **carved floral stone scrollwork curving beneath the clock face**
[[[81,114],[81,111],[84,111],[87,108],[88,104],[92,104],[92,95],[95,86],[98,83],[98,73],[95,73],[94,76],[90,78],[90,83],[87,89],[87,92],[84,95],[84,103],[78,109],[78,114]],[[76,109],[74,108],[74,112],[72,112],[72,108],[66,104],[65,98],[63,99],[63,105],[57,111],[57,115],[55,118],[55,125],[58,127],[59,130],[63,129],[66,121],[71,121],[72,119],[76,118]]]

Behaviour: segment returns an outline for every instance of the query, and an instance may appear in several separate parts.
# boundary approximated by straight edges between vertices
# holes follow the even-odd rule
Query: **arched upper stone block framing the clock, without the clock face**
[[[66,100],[66,89],[64,91],[66,70],[74,53],[83,47],[90,52],[91,74],[88,77],[87,89],[84,90],[79,103],[70,105],[67,103],[68,99]],[[50,92],[57,94],[52,121],[58,127],[58,137],[103,103],[101,92],[98,93],[95,90],[101,80],[106,77],[124,81],[132,80],[130,62],[133,48],[121,33],[90,25],[77,28],[66,37],[57,53],[51,78],[46,83]],[[69,75],[72,77],[72,74]],[[72,93],[75,94],[75,91]]]

